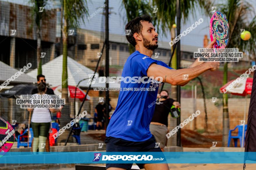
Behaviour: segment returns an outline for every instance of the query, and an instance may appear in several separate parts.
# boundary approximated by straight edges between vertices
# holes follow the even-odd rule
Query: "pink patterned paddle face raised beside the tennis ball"
[[[211,41],[216,37],[214,48],[225,48],[229,38],[229,25],[227,19],[221,12],[214,12],[210,21]]]

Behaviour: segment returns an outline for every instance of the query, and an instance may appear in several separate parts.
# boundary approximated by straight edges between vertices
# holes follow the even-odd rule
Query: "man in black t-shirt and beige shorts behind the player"
[[[168,95],[169,94],[166,90],[160,92],[160,96],[155,106],[154,115],[149,126],[151,134],[154,135],[156,142],[160,143],[162,151],[167,142],[166,134],[168,133],[168,115],[171,107],[172,105],[176,108],[180,107],[179,102],[172,98],[168,98]]]

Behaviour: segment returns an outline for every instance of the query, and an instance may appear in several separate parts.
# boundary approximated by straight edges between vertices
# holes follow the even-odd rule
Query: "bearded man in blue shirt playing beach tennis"
[[[151,23],[151,18],[147,15],[132,19],[125,29],[131,30],[126,38],[136,51],[128,57],[122,77],[161,77],[163,82],[183,86],[200,74],[208,70],[217,70],[219,67],[219,63],[202,63],[196,60],[189,68],[175,70],[162,61],[152,59],[153,51],[158,47],[158,34]],[[214,42],[215,40],[207,47],[211,48]],[[189,75],[186,76],[186,80],[184,80],[184,75]],[[144,82],[147,79],[144,79]],[[160,81],[160,79],[157,80]],[[121,89],[155,88],[155,91],[120,90],[117,107],[106,131],[106,152],[132,152],[132,155],[136,155],[135,152],[161,152],[160,147],[156,147],[155,138],[149,130],[159,84],[157,81],[149,83],[140,81],[127,83],[127,81],[128,79],[121,82]],[[106,164],[106,169],[131,169],[132,164],[133,162],[131,164]],[[146,170],[169,169],[167,163],[137,165]]]

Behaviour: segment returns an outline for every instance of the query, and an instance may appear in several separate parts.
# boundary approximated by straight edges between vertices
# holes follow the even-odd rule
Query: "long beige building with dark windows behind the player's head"
[[[92,30],[83,30],[79,29],[77,31],[77,58],[74,58],[79,63],[90,67],[95,68],[98,58],[97,53],[101,52],[104,39],[102,38],[102,33]],[[124,35],[120,34],[109,34],[109,65],[112,68],[116,66],[118,68],[124,66],[127,58],[130,55],[128,41]],[[200,47],[190,46],[190,45],[182,45],[181,53],[182,53],[182,61],[181,66],[187,67],[195,60],[193,58],[193,52],[197,51]],[[154,54],[152,56],[153,59],[161,60],[165,63],[169,63],[171,50],[168,42],[158,42],[158,48],[154,51],[154,53],[159,53],[157,58],[154,58]],[[72,54],[75,54],[75,47],[70,48],[68,51],[68,56],[72,57]],[[73,55],[74,56],[74,55]],[[102,54],[104,58],[104,51]],[[105,59],[102,59],[100,65],[104,67]],[[120,67],[119,67],[120,66]],[[120,71],[120,70],[119,70]],[[122,68],[121,72],[122,73]]]

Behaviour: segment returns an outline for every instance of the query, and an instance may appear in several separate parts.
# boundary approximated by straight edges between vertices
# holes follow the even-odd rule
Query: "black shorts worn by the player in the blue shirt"
[[[156,140],[154,136],[142,142],[133,142],[121,138],[106,137],[106,152],[162,152],[160,147],[155,148]],[[164,157],[164,156],[162,156]],[[137,164],[143,169],[144,164]],[[110,167],[131,169],[132,164],[106,164],[106,169]]]

